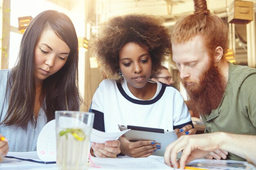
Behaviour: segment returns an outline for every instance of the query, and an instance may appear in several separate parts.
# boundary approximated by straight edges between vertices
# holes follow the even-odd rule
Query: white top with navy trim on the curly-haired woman
[[[114,79],[103,80],[90,107],[95,113],[94,128],[117,132],[117,125],[121,124],[173,130],[192,124],[189,110],[177,89],[149,82],[157,84],[157,92],[150,100],[140,100],[129,91],[125,80],[121,84]]]

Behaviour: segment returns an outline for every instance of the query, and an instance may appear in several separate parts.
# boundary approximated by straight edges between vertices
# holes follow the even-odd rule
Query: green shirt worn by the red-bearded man
[[[229,63],[229,78],[222,101],[210,115],[201,116],[206,133],[256,135],[256,69]],[[227,158],[245,161],[232,153]]]

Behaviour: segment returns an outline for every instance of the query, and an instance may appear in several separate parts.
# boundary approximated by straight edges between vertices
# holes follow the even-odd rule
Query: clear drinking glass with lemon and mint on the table
[[[87,170],[94,113],[55,111],[58,170]]]

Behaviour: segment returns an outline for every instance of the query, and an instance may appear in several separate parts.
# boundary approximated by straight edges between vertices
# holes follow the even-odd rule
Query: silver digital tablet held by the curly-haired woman
[[[171,144],[177,138],[174,130],[147,128],[141,126],[118,125],[121,131],[131,129],[124,134],[128,141],[152,140],[157,144],[161,144],[161,149],[156,150],[152,155],[164,156],[164,151],[168,144]],[[181,152],[177,155],[180,158]]]

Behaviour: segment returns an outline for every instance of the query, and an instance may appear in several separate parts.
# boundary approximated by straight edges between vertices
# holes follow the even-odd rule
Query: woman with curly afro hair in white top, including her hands
[[[172,86],[149,79],[171,54],[170,33],[153,15],[116,16],[105,22],[92,44],[93,55],[108,79],[95,92],[90,112],[93,128],[117,132],[118,124],[174,130],[195,134],[189,110]],[[105,144],[92,143],[96,157],[148,157],[160,144],[130,142],[124,136]]]

